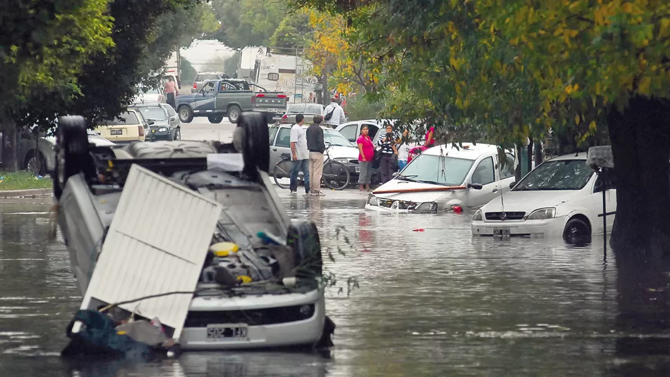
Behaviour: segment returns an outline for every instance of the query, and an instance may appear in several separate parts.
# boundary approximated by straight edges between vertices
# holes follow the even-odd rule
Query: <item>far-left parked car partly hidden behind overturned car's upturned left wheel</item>
[[[37,138],[37,145],[35,144],[35,127],[32,126],[26,129],[26,132],[21,134],[19,142],[19,158],[17,160],[19,168],[23,170],[32,171],[37,175],[45,175],[52,173],[55,166],[56,153],[54,147],[56,145],[56,137],[46,136],[46,133],[41,133]],[[113,142],[98,135],[93,130],[86,130],[88,142],[95,146],[113,146]]]

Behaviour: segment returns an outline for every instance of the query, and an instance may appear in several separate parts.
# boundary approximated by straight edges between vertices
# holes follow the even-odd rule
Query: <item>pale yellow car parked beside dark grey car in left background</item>
[[[153,124],[153,120],[147,122],[137,108],[128,108],[115,119],[106,120],[94,129],[111,142],[144,142],[149,126]]]

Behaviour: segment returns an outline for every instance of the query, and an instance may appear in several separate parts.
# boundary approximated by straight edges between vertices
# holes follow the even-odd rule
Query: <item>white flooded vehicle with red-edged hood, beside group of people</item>
[[[510,191],[515,157],[512,151],[505,155],[504,164],[499,165],[495,145],[433,146],[372,191],[365,209],[434,213],[454,206],[483,206]]]

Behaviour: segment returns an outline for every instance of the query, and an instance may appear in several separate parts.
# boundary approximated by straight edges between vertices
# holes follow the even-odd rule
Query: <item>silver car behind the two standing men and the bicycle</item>
[[[305,129],[307,127],[307,125],[303,126]],[[361,167],[358,166],[358,147],[354,146],[341,133],[332,128],[321,126],[321,129],[323,129],[324,142],[330,144],[328,151],[330,157],[347,167],[352,177],[352,182],[354,182],[354,177],[358,179],[358,173],[361,172]],[[274,124],[269,126],[269,137],[270,168],[273,168],[282,160],[281,155],[283,153],[291,153],[291,125]]]

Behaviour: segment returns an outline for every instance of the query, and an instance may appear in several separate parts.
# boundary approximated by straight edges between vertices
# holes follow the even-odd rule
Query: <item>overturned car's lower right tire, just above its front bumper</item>
[[[295,222],[289,226],[286,244],[293,249],[296,278],[316,278],[323,273],[321,241],[314,222]]]

